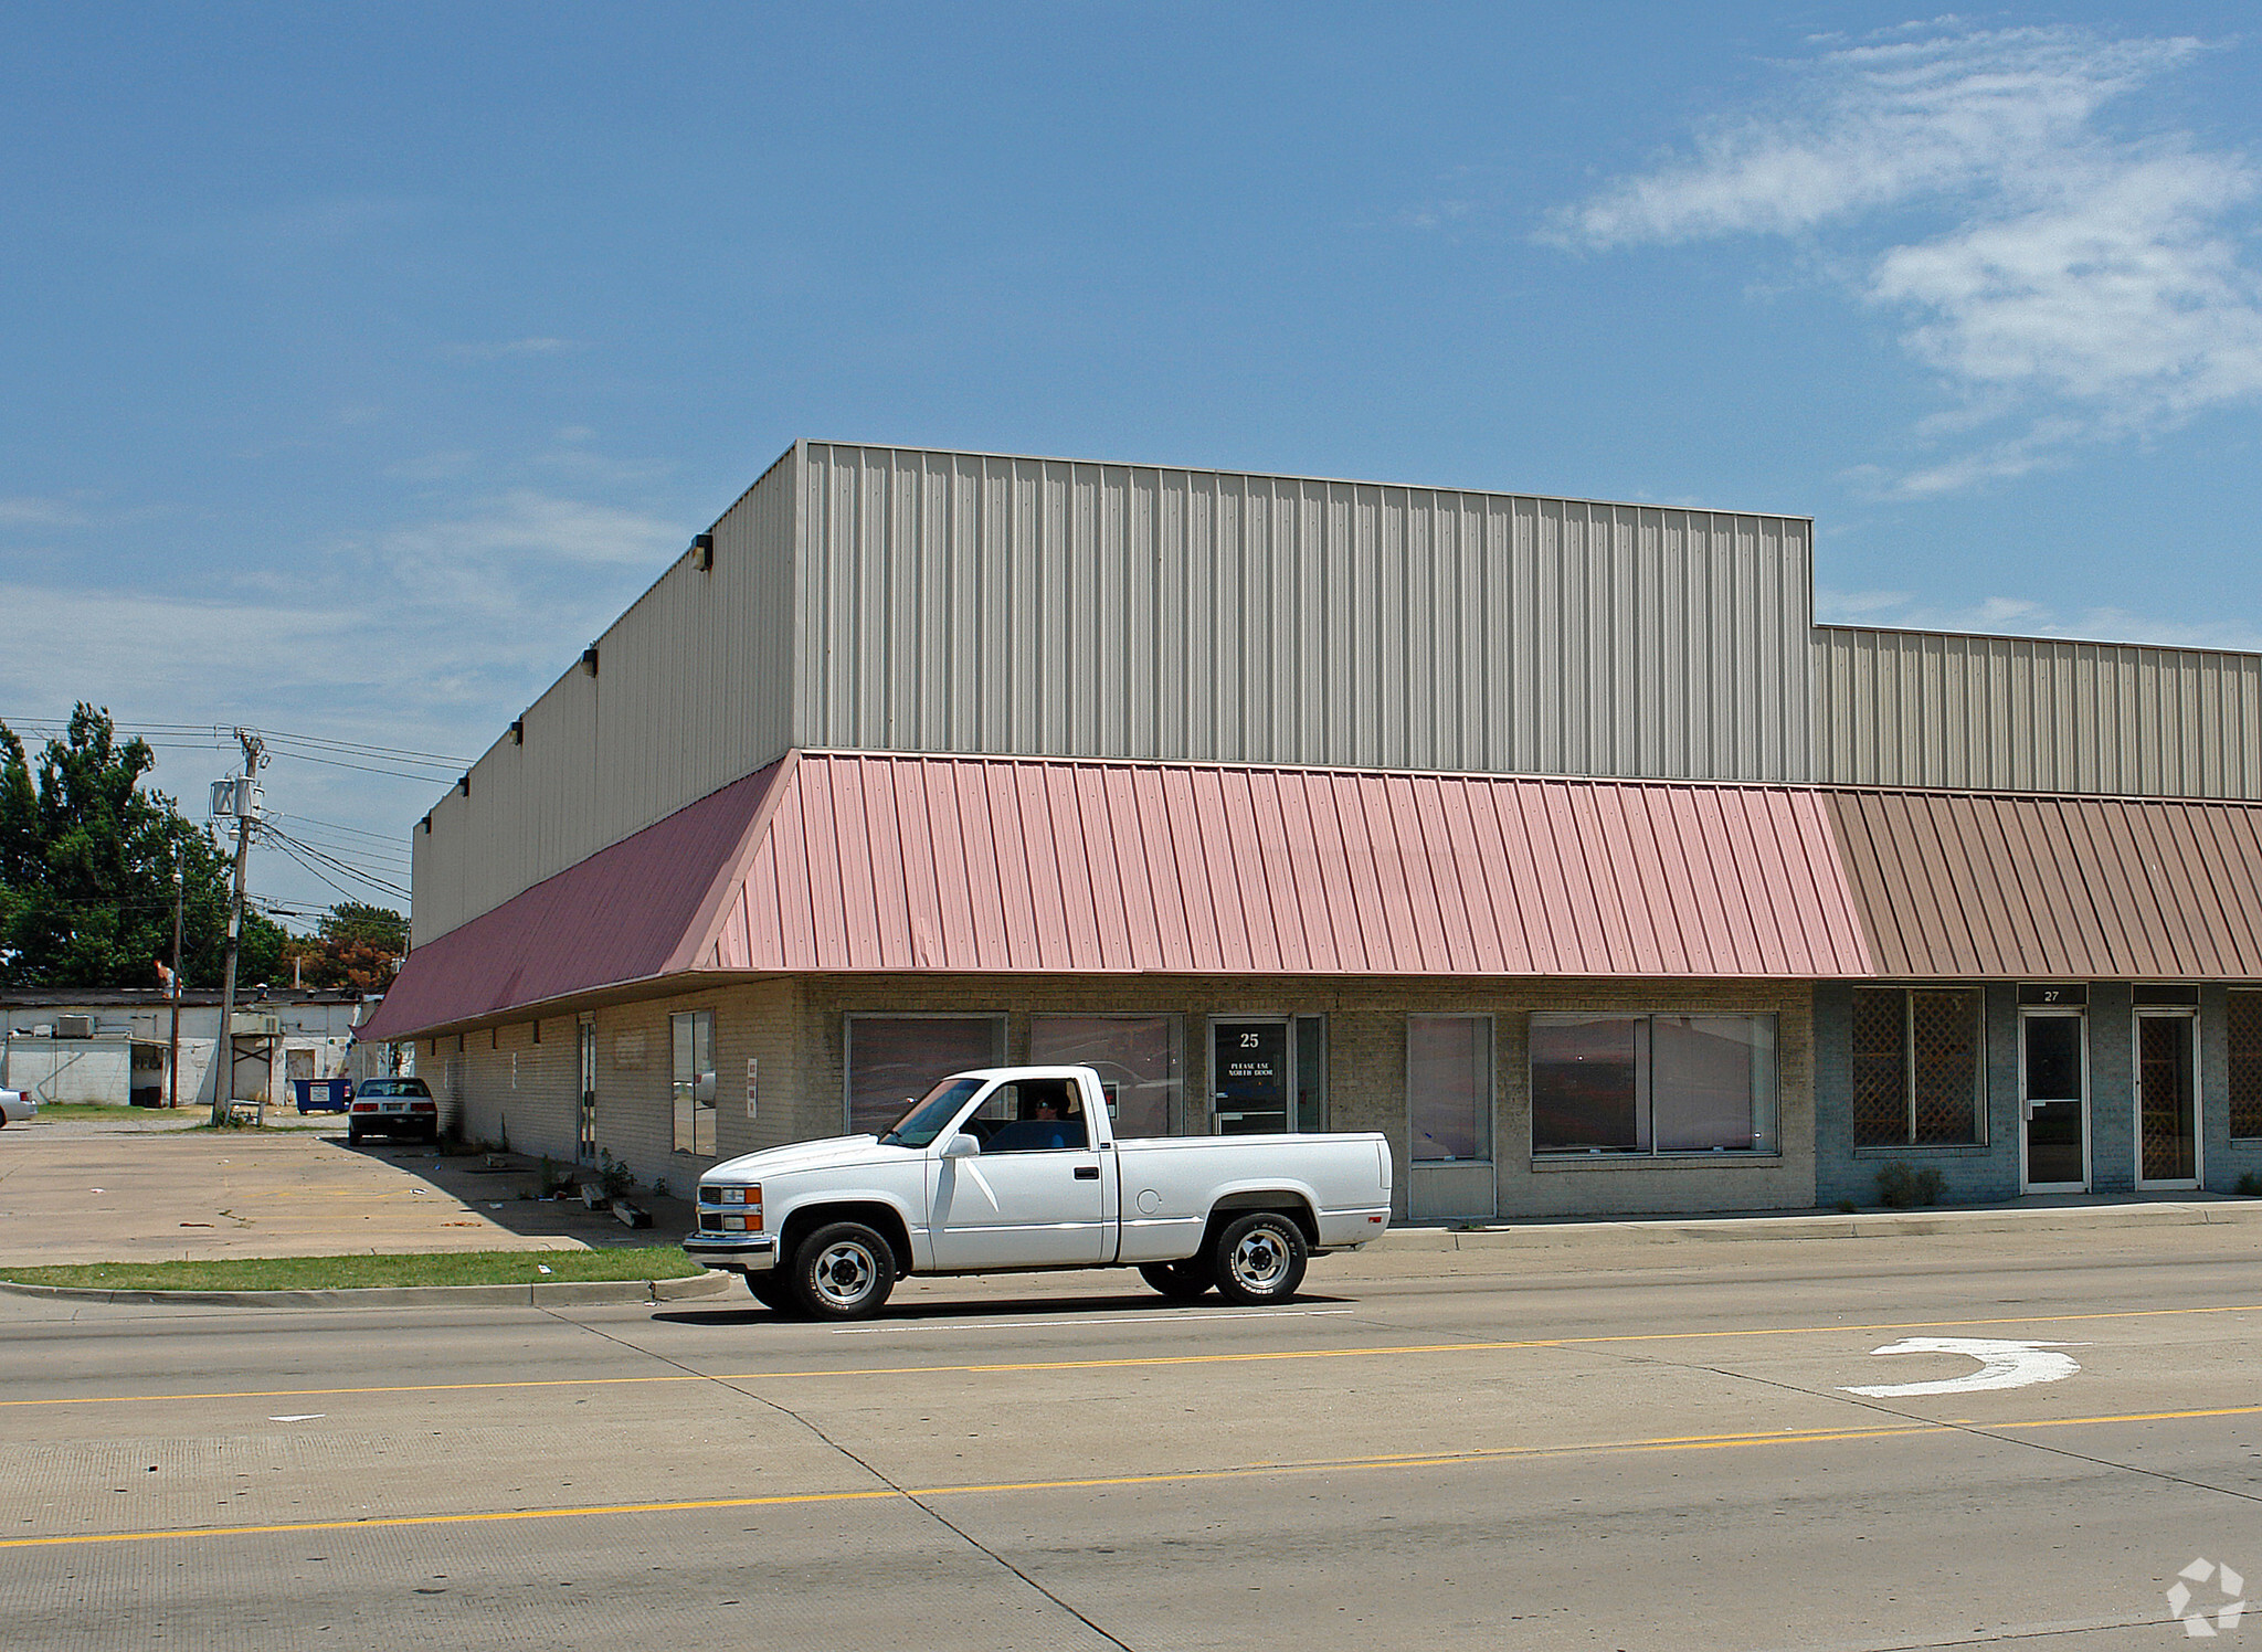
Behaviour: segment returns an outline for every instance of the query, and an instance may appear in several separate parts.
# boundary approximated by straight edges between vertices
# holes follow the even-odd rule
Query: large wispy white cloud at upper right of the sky
[[[2203,50],[2074,27],[1896,29],[1792,66],[1789,113],[1699,134],[1692,156],[1556,213],[1547,238],[1606,251],[1794,235],[1905,317],[1905,349],[1954,396],[1916,434],[1975,444],[1880,473],[1882,491],[2024,475],[2262,394],[2262,278],[2239,247],[2262,174],[2190,134],[2106,124],[2115,100]],[[1986,439],[1991,425],[2006,434]]]

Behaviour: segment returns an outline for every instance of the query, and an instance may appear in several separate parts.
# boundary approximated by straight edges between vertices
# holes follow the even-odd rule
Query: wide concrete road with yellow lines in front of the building
[[[914,1281],[851,1331],[0,1299],[0,1645],[2187,1645],[2187,1564],[2262,1598],[2257,1238]],[[2079,1369],[1846,1392],[1982,1369],[1911,1337]]]

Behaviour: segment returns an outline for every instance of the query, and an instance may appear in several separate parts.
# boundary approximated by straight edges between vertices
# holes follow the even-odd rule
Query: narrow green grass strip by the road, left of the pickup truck
[[[547,1270],[547,1272],[543,1272]],[[217,1263],[0,1267],[20,1285],[86,1290],[360,1290],[369,1285],[550,1285],[575,1279],[688,1279],[674,1245],[595,1251],[430,1251],[414,1256],[233,1256]]]

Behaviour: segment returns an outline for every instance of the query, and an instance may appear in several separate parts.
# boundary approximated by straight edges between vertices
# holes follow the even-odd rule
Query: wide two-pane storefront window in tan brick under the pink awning
[[[1531,1152],[1776,1152],[1776,1018],[1531,1016]]]

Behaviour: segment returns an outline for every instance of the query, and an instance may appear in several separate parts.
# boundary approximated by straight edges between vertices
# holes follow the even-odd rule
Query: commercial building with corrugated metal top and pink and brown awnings
[[[418,824],[362,1036],[676,1188],[998,1059],[1414,1218],[2262,1170],[2262,659],[1816,627],[1810,548],[796,444]]]

